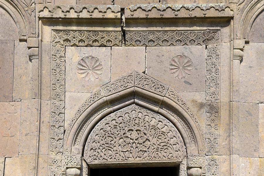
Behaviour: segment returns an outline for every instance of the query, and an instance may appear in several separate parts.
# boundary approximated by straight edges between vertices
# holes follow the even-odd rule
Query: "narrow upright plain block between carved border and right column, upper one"
[[[229,102],[232,99],[232,45],[229,43],[221,43],[221,65],[220,65],[220,99],[221,102]]]

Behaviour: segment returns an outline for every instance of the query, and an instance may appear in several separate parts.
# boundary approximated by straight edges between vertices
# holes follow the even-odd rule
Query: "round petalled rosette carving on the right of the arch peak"
[[[175,78],[182,79],[191,74],[193,63],[189,57],[178,55],[170,60],[169,69]]]

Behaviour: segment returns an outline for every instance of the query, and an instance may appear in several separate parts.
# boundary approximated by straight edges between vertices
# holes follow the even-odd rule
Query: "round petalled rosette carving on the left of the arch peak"
[[[77,72],[82,78],[85,78],[88,81],[98,79],[103,73],[102,69],[102,62],[97,57],[93,56],[83,57],[77,64]]]

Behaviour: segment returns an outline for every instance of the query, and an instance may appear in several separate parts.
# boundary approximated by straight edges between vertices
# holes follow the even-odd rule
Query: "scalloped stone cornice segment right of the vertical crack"
[[[126,18],[197,18],[233,16],[233,4],[137,4],[125,8]]]

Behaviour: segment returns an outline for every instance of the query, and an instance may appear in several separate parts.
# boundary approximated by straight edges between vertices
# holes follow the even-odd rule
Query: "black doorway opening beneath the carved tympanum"
[[[178,174],[177,167],[104,168],[90,171],[91,176],[174,176]]]

